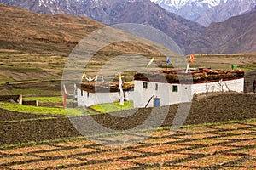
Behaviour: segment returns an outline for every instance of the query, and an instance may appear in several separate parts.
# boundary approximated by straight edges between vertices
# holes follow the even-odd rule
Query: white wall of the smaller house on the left
[[[81,94],[81,89],[78,88],[78,105],[79,107],[89,107],[91,105],[108,104],[113,102],[118,102],[120,97],[118,92],[109,93],[88,93],[83,91]],[[125,99],[129,99],[132,92],[125,92]]]

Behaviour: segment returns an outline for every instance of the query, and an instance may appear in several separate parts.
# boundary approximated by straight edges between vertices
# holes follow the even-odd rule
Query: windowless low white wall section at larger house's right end
[[[207,82],[207,83],[197,83],[192,85],[192,94],[201,94],[201,93],[212,93],[212,92],[227,92],[227,91],[236,91],[243,92],[244,89],[244,78],[223,81],[221,82]]]

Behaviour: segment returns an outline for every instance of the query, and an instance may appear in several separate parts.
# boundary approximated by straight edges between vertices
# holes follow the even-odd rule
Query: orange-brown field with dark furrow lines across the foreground
[[[141,133],[143,135],[143,133]],[[155,132],[126,147],[87,139],[0,150],[6,169],[255,169],[256,121]],[[122,136],[112,137],[122,138]],[[106,141],[109,139],[103,138]]]

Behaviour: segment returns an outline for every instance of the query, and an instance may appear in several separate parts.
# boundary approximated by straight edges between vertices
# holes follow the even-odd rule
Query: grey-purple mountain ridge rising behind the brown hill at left
[[[107,25],[137,23],[152,26],[172,37],[184,54],[189,54],[189,43],[205,31],[204,26],[167,12],[150,0],[0,0],[0,3],[44,14],[52,14],[55,8],[56,13],[86,16]]]

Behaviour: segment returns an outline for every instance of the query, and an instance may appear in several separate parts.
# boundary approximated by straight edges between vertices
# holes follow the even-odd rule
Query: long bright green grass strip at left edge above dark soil
[[[12,103],[0,103],[0,107],[9,111],[18,111],[22,113],[32,114],[52,114],[52,115],[67,115],[67,111],[63,108],[55,107],[36,107],[32,105],[19,105]],[[69,116],[83,116],[83,113],[77,109],[68,108]]]

